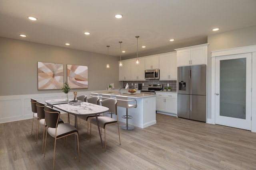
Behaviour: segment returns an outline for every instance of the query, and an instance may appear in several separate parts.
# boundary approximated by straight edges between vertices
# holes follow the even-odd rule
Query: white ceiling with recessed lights
[[[124,17],[114,18],[117,13]],[[59,47],[68,42],[67,48],[102,54],[110,45],[113,56],[120,56],[123,41],[122,57],[136,55],[136,35],[140,57],[205,40],[215,27],[220,33],[252,25],[256,0],[0,0],[0,37]]]

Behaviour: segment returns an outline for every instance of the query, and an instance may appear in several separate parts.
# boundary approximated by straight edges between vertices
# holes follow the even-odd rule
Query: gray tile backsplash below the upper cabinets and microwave
[[[172,88],[172,91],[177,90],[177,81],[176,80],[123,81],[123,88],[125,88],[127,83],[131,86],[131,88],[134,88],[134,83],[141,83],[141,84],[144,83],[144,86],[142,85],[142,90],[148,90],[149,84],[162,84],[164,87],[166,87],[167,84],[169,84],[169,86],[171,86],[171,88]]]

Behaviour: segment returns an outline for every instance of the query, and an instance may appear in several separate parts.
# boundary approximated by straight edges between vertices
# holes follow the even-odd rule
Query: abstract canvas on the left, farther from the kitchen
[[[61,89],[63,64],[37,62],[38,90]]]

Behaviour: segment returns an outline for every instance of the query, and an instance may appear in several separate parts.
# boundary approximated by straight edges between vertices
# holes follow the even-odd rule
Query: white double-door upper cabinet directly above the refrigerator
[[[209,43],[175,49],[177,51],[177,66],[207,64],[207,49]]]

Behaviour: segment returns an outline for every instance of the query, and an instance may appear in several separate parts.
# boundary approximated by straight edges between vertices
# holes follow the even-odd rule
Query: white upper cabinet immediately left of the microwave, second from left
[[[140,64],[135,64],[136,59],[131,60],[131,80],[145,80],[145,59],[139,58]]]

